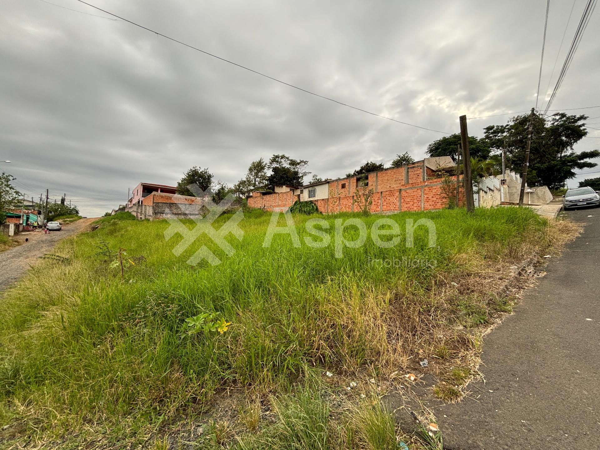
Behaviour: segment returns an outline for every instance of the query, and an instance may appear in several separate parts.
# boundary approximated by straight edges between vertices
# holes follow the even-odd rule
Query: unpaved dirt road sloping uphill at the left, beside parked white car
[[[61,231],[52,231],[48,235],[41,231],[19,233],[16,239],[25,241],[28,238],[29,241],[0,253],[0,292],[22,277],[30,266],[40,260],[40,256],[52,253],[56,242],[81,232],[96,219],[86,218],[65,224]]]

